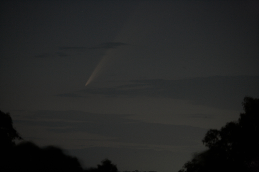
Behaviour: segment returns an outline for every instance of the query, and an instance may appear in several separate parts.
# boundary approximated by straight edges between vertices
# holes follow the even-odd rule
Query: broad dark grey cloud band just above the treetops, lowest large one
[[[114,142],[153,145],[198,146],[206,132],[206,129],[197,127],[130,120],[126,119],[127,116],[72,110],[36,111],[16,123],[44,126],[55,133],[87,132],[116,138],[112,140]]]

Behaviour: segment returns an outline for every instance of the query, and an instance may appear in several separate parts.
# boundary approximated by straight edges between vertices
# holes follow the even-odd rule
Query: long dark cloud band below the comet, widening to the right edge
[[[245,96],[259,97],[259,76],[213,76],[182,80],[134,80],[107,88],[81,90],[87,94],[105,96],[151,96],[189,100],[223,109],[242,110]]]

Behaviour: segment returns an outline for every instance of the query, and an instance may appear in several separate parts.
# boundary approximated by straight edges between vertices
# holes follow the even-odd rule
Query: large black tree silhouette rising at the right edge
[[[179,172],[259,171],[259,99],[245,97],[245,113],[221,130],[209,130],[203,144],[208,150],[194,155]]]

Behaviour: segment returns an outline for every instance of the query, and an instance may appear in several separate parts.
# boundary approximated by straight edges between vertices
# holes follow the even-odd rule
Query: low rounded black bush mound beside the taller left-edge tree
[[[83,171],[76,157],[54,146],[39,148],[31,142],[13,147],[1,171]]]

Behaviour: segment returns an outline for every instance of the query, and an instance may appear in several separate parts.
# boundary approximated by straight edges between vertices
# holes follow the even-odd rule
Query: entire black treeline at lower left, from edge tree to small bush
[[[0,111],[0,171],[100,171],[117,172],[116,165],[109,159],[104,159],[97,168],[83,169],[76,157],[66,155],[62,149],[47,146],[40,148],[32,142],[15,144],[15,139],[22,139],[13,128],[13,121],[9,113]]]

